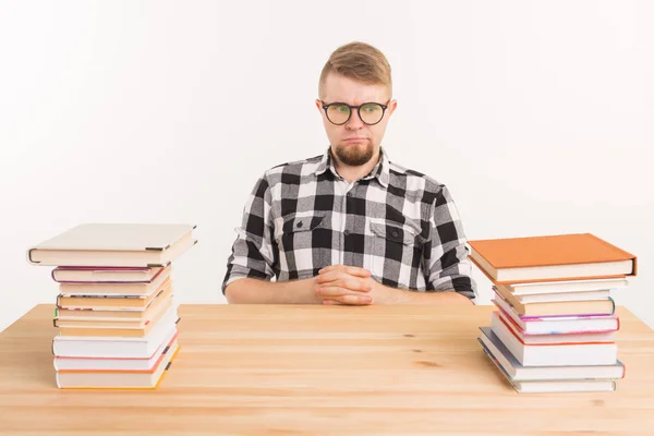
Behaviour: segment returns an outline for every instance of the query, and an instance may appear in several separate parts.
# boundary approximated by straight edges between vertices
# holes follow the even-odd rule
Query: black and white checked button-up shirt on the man
[[[336,264],[363,267],[393,288],[456,290],[474,298],[469,247],[447,187],[382,158],[349,183],[323,156],[271,168],[245,205],[222,292],[253,277],[315,277]]]

